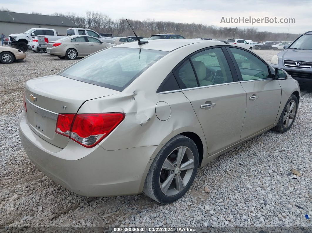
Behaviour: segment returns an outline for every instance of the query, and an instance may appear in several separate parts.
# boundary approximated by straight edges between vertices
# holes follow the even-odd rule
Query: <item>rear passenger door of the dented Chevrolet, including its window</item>
[[[210,156],[240,141],[246,110],[246,92],[223,50],[218,46],[196,52],[174,70],[202,126]]]

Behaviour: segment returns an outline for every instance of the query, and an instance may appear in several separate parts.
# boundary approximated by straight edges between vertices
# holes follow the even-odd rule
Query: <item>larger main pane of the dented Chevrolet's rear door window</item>
[[[233,82],[230,67],[221,48],[207,49],[191,57],[199,86]]]

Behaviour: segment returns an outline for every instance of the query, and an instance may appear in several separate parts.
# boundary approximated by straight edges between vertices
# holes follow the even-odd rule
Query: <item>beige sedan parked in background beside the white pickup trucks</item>
[[[77,57],[85,57],[110,46],[113,44],[102,42],[93,36],[74,35],[49,42],[46,52],[59,58],[74,60]]]

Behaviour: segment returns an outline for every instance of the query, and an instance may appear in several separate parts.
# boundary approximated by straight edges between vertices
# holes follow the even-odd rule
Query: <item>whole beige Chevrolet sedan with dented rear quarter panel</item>
[[[30,160],[85,196],[182,197],[197,168],[295,121],[298,82],[250,49],[150,40],[103,49],[25,85]]]

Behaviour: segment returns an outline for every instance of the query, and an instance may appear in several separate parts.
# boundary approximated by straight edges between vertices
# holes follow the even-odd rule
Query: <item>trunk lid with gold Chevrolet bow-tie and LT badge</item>
[[[29,80],[25,85],[28,125],[47,142],[64,148],[69,138],[55,132],[58,114],[77,113],[85,101],[116,93],[60,75]]]

